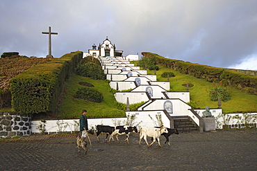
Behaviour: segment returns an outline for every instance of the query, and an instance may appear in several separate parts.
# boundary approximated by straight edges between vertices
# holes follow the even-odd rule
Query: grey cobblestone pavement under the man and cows
[[[77,152],[76,134],[32,135],[0,141],[0,170],[257,170],[257,129],[172,134],[171,146],[104,141],[90,136],[88,154]],[[119,140],[126,136],[119,136]],[[148,139],[150,141],[150,138]],[[165,139],[160,137],[163,144]]]

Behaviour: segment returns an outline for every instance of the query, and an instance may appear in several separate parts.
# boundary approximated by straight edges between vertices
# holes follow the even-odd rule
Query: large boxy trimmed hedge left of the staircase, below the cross
[[[10,80],[12,106],[18,113],[38,114],[54,112],[63,91],[63,84],[82,59],[76,51],[62,57],[38,64]]]

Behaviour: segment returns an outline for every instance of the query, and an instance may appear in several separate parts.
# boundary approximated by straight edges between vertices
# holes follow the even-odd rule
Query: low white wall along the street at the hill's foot
[[[205,109],[197,109],[196,111],[198,112],[202,112]],[[213,116],[218,115],[219,111],[222,111],[221,109],[210,109],[210,111],[212,112]],[[214,112],[215,111],[215,112]],[[155,127],[158,125],[154,124],[154,121],[156,122],[156,115],[161,114],[162,120],[163,120],[163,125],[165,127],[169,127],[169,119],[167,118],[167,116],[164,114],[164,112],[162,110],[160,111],[126,111],[126,116],[128,115],[132,115],[135,114],[135,120],[134,120],[134,125],[139,124],[139,127]],[[149,115],[151,116],[151,118],[154,119],[151,120],[151,118],[149,117]],[[244,114],[227,114],[228,116],[241,116],[243,117]],[[257,115],[257,113],[251,113],[250,115],[254,116]],[[200,115],[201,116],[201,115]],[[192,117],[191,117],[192,118]],[[217,118],[216,118],[217,119]],[[46,120],[46,129],[48,133],[53,132],[53,133],[57,133],[60,132],[60,127],[63,127],[61,130],[63,132],[74,132],[74,131],[78,131],[79,130],[79,119],[70,119],[70,120]],[[222,120],[219,120],[222,121]],[[124,123],[126,122],[126,118],[88,118],[88,128],[91,129],[91,127],[96,127],[96,125],[110,125],[110,126],[117,126],[119,125],[118,123],[124,125]],[[40,125],[40,120],[33,120],[31,122],[31,132],[33,134],[35,133],[40,133],[40,130],[36,129],[36,127],[38,125]],[[60,125],[60,127],[58,127],[58,124]],[[63,124],[61,124],[63,123]],[[236,125],[238,123],[237,119],[233,119],[231,118],[229,125]],[[242,122],[244,123],[244,122]],[[252,120],[250,121],[250,123],[257,123],[257,120]],[[133,126],[134,126],[133,125]],[[64,128],[66,126],[66,128]],[[221,129],[222,125],[216,125],[217,129]]]

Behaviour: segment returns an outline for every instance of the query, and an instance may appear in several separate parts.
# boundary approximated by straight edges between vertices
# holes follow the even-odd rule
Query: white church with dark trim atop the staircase
[[[112,44],[108,37],[103,41],[102,44],[99,43],[97,47],[95,44],[92,46],[92,49],[88,50],[88,53],[94,57],[122,57],[123,51],[116,51],[115,44]]]

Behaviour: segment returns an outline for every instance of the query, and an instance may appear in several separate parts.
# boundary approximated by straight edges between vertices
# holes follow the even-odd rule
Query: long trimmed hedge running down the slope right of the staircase
[[[144,57],[151,57],[156,64],[165,66],[180,73],[194,75],[196,78],[203,78],[208,82],[224,82],[226,85],[233,85],[240,90],[257,95],[257,76],[239,73],[230,69],[216,68],[201,64],[192,64],[182,60],[171,60],[155,53],[142,52]]]

